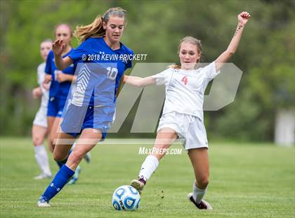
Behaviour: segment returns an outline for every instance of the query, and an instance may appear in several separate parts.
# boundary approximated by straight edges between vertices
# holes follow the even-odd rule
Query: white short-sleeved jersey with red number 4
[[[163,115],[176,111],[203,120],[204,92],[207,84],[218,75],[215,63],[197,70],[169,68],[153,75],[157,85],[166,85]]]

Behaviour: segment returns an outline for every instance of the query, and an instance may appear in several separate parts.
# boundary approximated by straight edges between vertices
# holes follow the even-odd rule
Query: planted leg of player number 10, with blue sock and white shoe
[[[74,170],[77,168],[84,155],[96,146],[96,143],[100,141],[102,136],[103,134],[96,129],[84,129],[82,131],[81,136],[77,140],[77,146],[75,146],[72,153],[70,153],[67,162],[60,168],[57,174],[55,174],[53,181],[39,198],[37,203],[39,207],[50,207],[49,200],[67,184],[67,181],[74,175]],[[55,148],[58,148],[58,146],[60,145],[55,146]],[[66,149],[64,148],[64,150]],[[58,153],[56,153],[56,155],[58,155]],[[58,160],[58,158],[62,158],[61,155],[59,157],[55,156],[55,160]]]

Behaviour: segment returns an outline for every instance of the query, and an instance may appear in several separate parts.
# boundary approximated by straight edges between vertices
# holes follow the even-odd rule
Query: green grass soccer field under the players
[[[211,143],[205,199],[213,211],[196,210],[186,200],[194,176],[183,150],[160,162],[138,211],[117,212],[111,205],[112,193],[137,177],[145,159],[138,155],[139,147],[96,146],[91,164],[82,162],[77,184],[65,186],[51,207],[38,208],[39,195],[50,180],[32,179],[39,169],[30,139],[2,138],[0,217],[295,217],[294,147],[246,143]],[[53,173],[58,169],[53,160],[51,168]]]

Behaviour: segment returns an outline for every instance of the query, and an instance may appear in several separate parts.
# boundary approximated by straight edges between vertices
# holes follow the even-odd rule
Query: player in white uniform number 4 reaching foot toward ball
[[[178,47],[181,66],[173,65],[168,70],[145,78],[124,77],[124,82],[135,86],[166,86],[166,99],[154,146],[159,149],[152,149],[152,155],[148,155],[141,166],[138,179],[131,181],[131,186],[140,193],[157,169],[159,160],[165,155],[157,153],[157,150],[169,148],[173,141],[181,137],[185,139],[185,150],[188,151],[195,172],[192,193],[188,194],[188,199],[198,209],[212,210],[211,205],[203,200],[209,184],[208,142],[202,111],[204,91],[209,81],[218,75],[224,63],[228,62],[237,50],[249,18],[250,15],[246,11],[237,15],[237,29],[228,49],[204,68],[196,69],[202,55],[201,42],[193,37],[185,37]]]

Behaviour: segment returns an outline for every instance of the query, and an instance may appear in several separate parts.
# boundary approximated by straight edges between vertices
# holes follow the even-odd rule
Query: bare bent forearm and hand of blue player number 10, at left
[[[56,68],[58,70],[64,70],[68,66],[70,66],[73,61],[69,57],[62,57],[62,53],[65,50],[65,43],[63,42],[62,39],[57,39],[53,42],[52,44],[52,51],[54,53],[54,61]]]

